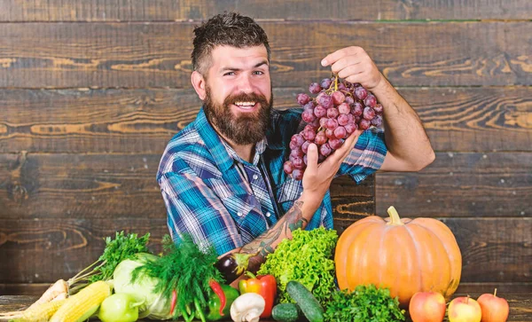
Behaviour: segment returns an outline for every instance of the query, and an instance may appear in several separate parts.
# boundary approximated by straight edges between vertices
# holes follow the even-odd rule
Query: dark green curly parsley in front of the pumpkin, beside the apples
[[[325,309],[328,322],[390,322],[404,321],[404,310],[387,288],[374,285],[358,286],[353,292],[336,291]]]

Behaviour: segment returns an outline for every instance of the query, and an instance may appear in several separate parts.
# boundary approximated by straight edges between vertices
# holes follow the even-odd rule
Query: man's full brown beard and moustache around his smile
[[[231,104],[234,102],[256,102],[260,108],[253,114],[234,115]],[[241,93],[230,95],[223,100],[223,106],[216,104],[211,97],[211,90],[206,87],[204,110],[207,120],[220,131],[223,137],[237,145],[250,145],[262,140],[270,126],[270,112],[273,105],[273,94],[270,102],[264,95]]]

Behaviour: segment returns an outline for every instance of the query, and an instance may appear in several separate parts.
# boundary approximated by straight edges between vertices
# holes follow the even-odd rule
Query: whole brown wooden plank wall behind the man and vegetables
[[[389,205],[440,218],[461,291],[532,292],[528,0],[0,0],[0,294],[74,275],[117,230],[167,232],[155,172],[199,110],[192,29],[223,10],[270,36],[276,107],[359,45],[425,122],[430,167],[334,183],[340,232]]]

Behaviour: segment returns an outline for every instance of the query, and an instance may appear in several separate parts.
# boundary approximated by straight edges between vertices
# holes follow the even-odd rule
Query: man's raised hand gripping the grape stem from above
[[[360,82],[366,90],[375,89],[384,79],[379,68],[361,47],[347,47],[334,51],[321,62],[323,67],[331,66],[332,73],[348,82]]]

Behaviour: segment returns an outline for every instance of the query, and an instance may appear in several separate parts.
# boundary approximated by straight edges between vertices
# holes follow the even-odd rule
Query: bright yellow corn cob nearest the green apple
[[[82,322],[93,315],[111,295],[111,287],[99,280],[66,299],[65,304],[51,317],[50,322]]]

